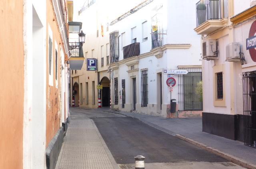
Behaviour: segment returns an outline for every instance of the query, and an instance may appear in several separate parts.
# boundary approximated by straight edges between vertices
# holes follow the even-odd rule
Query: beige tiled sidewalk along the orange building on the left
[[[56,169],[114,169],[111,156],[92,120],[72,118]]]

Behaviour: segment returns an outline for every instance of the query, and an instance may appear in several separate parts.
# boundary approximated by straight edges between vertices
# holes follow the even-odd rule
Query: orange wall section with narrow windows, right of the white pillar
[[[58,25],[56,22],[56,18],[54,16],[54,10],[52,7],[52,3],[50,0],[46,1],[46,11],[47,11],[47,18],[46,18],[46,147],[55,136],[56,132],[60,128],[60,116],[61,116],[61,108],[60,108],[60,91],[61,91],[61,79],[60,79],[60,72],[61,72],[61,65],[60,65],[60,46],[62,47],[62,40],[60,36],[60,32],[58,30]],[[52,53],[52,64],[53,64],[53,86],[49,84],[49,34],[48,34],[48,25],[50,25],[52,29],[53,39],[52,39],[52,49],[54,49]],[[55,84],[55,41],[57,42],[57,49],[58,49],[58,88],[56,88]],[[62,50],[64,48],[62,47]]]

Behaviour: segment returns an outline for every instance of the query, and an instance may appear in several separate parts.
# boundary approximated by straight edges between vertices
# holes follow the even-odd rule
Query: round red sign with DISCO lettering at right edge
[[[256,21],[252,22],[249,37],[246,39],[246,50],[249,50],[250,56],[254,62],[256,62]]]

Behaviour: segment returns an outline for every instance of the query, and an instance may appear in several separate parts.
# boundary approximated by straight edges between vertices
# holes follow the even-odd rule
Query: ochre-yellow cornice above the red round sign
[[[247,10],[244,10],[243,12],[233,16],[232,18],[230,18],[230,21],[233,24],[238,24],[240,22],[244,22],[250,18],[252,18],[253,16],[256,16],[256,5],[250,7]]]

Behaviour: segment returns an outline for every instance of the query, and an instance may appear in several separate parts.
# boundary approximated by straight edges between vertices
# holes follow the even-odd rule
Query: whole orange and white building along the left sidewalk
[[[0,165],[53,169],[68,124],[66,0],[0,2]],[[15,30],[15,31],[14,31]]]

